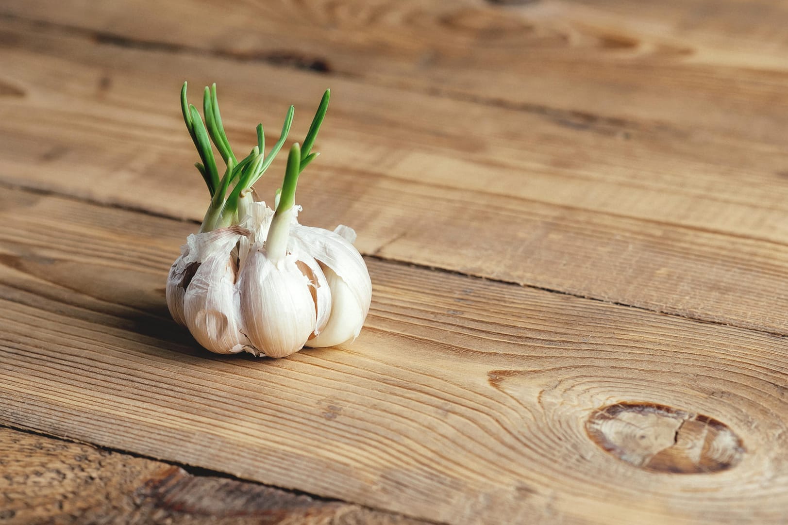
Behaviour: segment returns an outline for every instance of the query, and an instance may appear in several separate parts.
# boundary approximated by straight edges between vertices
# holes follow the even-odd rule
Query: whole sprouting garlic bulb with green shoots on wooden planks
[[[266,157],[262,126],[258,146],[236,161],[218,114],[215,85],[206,88],[206,125],[182,91],[184,120],[203,164],[199,171],[211,191],[200,233],[189,235],[170,268],[167,305],[200,345],[215,353],[247,351],[285,357],[304,346],[335,346],[358,337],[370,309],[372,283],[352,242],[355,232],[298,224],[295,205],[300,173],[328,107],[323,96],[304,140],[292,146],[275,209],[255,198],[254,183],[284,143],[292,106],[277,145]],[[225,160],[218,179],[207,136]],[[234,186],[231,188],[231,185]]]

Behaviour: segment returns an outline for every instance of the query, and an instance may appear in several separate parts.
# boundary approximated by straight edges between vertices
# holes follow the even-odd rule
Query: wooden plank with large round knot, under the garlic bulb
[[[352,346],[214,356],[162,298],[192,224],[4,198],[2,423],[446,523],[786,517],[783,338],[369,259]]]

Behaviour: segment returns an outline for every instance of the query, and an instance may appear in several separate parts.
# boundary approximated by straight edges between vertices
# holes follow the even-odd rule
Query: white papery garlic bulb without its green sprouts
[[[372,283],[355,232],[298,224],[296,207],[288,254],[274,263],[265,243],[273,210],[255,202],[247,211],[243,227],[189,235],[167,281],[173,319],[214,353],[285,357],[358,337]]]

